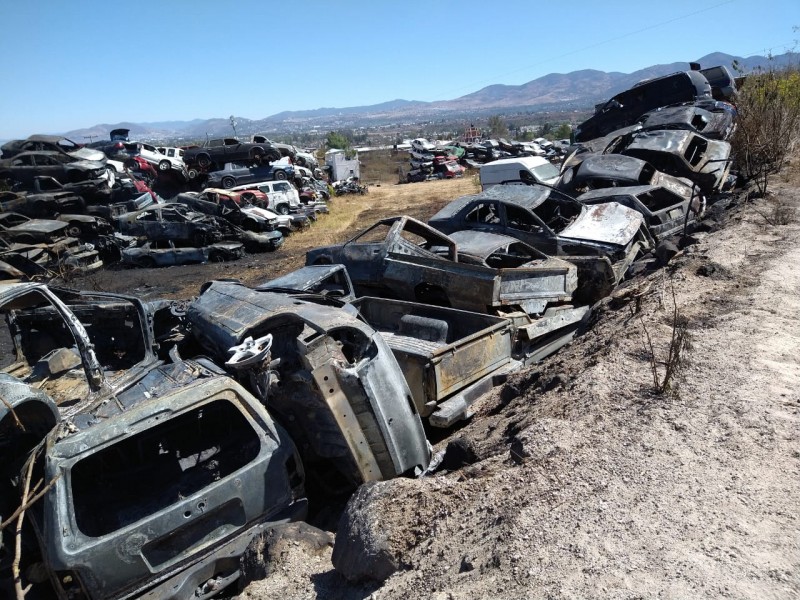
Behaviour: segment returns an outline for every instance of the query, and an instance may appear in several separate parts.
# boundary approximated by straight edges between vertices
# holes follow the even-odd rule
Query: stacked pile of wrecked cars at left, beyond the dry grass
[[[127,134],[95,148],[43,135],[3,146],[0,279],[235,260],[275,250],[328,211],[327,184],[300,165],[315,159],[292,146],[226,139],[184,151]]]

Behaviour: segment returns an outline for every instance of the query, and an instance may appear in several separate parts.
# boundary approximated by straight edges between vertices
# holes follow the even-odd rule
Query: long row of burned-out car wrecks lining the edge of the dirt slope
[[[0,518],[42,494],[20,550],[3,530],[3,572],[20,558],[60,598],[208,598],[308,499],[423,476],[425,425],[470,418],[568,343],[731,184],[735,110],[703,90],[622,120],[601,109],[604,137],[582,136],[555,186],[486,183],[253,287],[174,303],[0,286]]]

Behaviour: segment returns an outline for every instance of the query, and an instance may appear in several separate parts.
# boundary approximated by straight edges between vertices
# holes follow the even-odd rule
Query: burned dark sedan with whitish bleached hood
[[[653,247],[638,212],[611,202],[586,206],[543,185],[497,185],[456,198],[428,223],[444,233],[501,233],[578,267],[579,301],[606,296],[628,267]]]

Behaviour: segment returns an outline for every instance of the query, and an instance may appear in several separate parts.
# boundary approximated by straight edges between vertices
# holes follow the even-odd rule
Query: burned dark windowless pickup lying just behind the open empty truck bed
[[[568,302],[575,267],[501,235],[458,242],[411,217],[382,219],[338,246],[306,253],[306,264],[343,264],[359,295],[490,312],[518,306],[539,314]]]

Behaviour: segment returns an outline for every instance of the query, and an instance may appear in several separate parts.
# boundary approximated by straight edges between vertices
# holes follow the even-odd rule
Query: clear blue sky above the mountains
[[[782,54],[800,0],[0,0],[0,23],[4,139]]]

